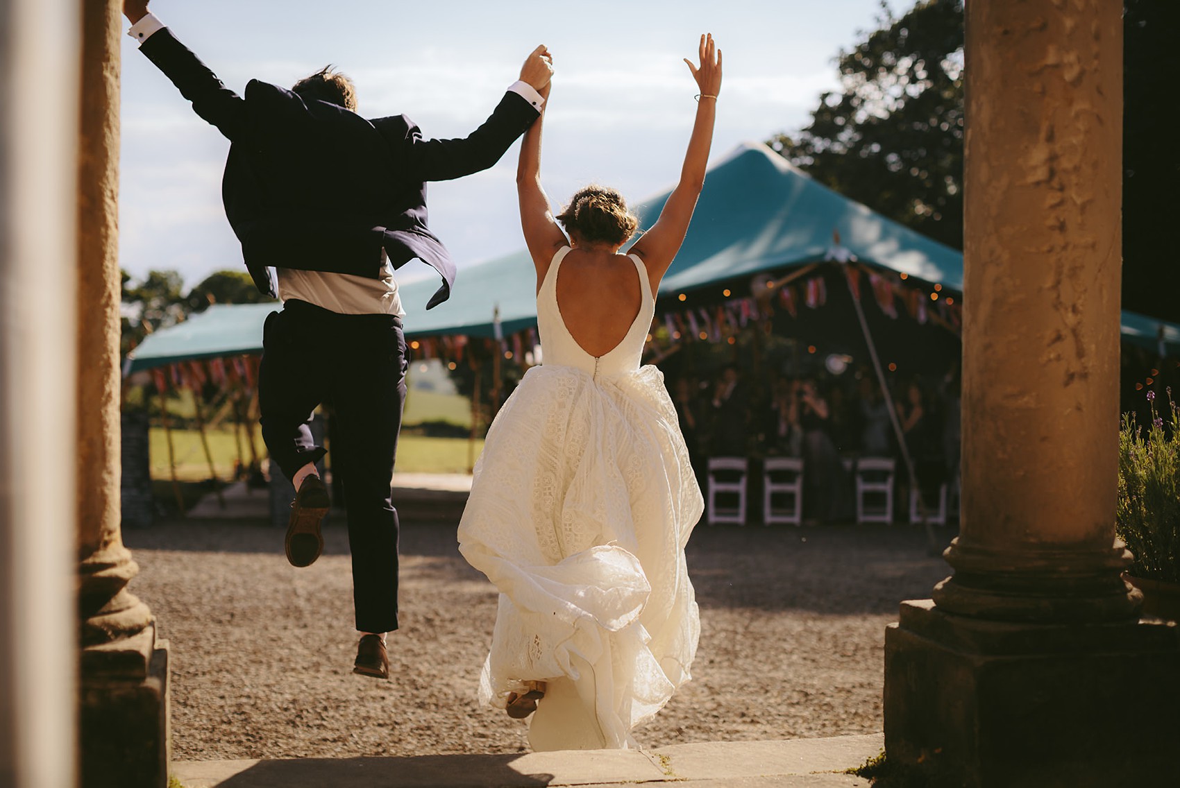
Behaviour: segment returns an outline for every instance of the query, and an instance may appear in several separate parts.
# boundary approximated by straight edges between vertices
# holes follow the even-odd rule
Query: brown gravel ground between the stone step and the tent
[[[402,511],[401,622],[392,678],[352,674],[342,518],[296,570],[283,532],[251,520],[129,531],[131,590],[171,641],[178,760],[527,750],[525,724],[476,702],[493,586],[455,550],[454,521]],[[949,544],[952,530],[938,530]],[[645,747],[881,730],[885,625],[949,574],[913,526],[697,526],[693,681],[636,731]]]

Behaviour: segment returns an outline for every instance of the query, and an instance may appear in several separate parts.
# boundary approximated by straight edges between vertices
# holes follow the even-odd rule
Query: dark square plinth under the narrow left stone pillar
[[[164,788],[171,760],[169,643],[142,635],[146,675],[97,670],[84,650],[79,704],[81,788]],[[131,646],[137,638],[125,643]],[[132,649],[136,650],[136,649]],[[111,659],[127,664],[127,655]]]

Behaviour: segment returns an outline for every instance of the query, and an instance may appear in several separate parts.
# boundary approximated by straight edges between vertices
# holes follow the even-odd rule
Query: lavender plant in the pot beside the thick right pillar
[[[1135,556],[1136,577],[1180,583],[1180,426],[1168,388],[1167,419],[1147,393],[1149,427],[1125,414],[1119,431],[1119,507],[1115,532]],[[1146,432],[1145,432],[1146,429]]]

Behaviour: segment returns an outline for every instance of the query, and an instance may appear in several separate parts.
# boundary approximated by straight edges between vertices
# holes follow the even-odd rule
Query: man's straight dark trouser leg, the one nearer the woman
[[[356,629],[398,629],[398,512],[391,497],[406,400],[406,342],[388,315],[349,320],[332,381],[333,473],[341,474],[353,556]]]

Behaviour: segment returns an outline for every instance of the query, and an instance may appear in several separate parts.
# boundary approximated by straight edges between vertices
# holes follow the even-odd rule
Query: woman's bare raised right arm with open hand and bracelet
[[[680,251],[688,232],[688,223],[696,208],[696,198],[704,185],[704,168],[709,160],[709,146],[713,144],[713,122],[716,117],[717,94],[721,92],[721,50],[716,48],[713,34],[701,35],[700,65],[694,66],[687,58],[693,79],[701,91],[697,97],[696,122],[693,124],[693,136],[688,140],[684,153],[684,166],[680,172],[680,183],[671,190],[664,203],[660,218],[642,238],[631,248],[648,268],[653,283],[658,283],[664,271],[671,265],[673,258]]]

